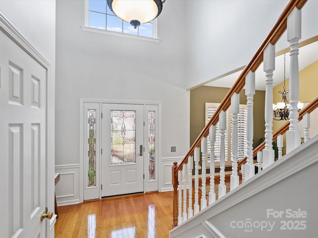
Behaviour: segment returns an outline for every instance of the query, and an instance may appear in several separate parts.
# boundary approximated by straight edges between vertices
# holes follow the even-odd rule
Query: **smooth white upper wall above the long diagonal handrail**
[[[187,0],[186,88],[246,65],[255,54],[288,0]],[[318,1],[302,9],[302,39],[316,36]],[[199,13],[199,14],[198,14]],[[289,47],[286,32],[276,51]]]

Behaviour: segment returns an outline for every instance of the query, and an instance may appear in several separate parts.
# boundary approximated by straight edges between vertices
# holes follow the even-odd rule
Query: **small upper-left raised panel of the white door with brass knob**
[[[23,105],[23,69],[9,62],[9,103]]]

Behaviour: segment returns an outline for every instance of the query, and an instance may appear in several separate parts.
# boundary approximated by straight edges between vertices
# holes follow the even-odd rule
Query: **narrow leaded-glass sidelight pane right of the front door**
[[[155,179],[155,112],[148,112],[149,180]]]

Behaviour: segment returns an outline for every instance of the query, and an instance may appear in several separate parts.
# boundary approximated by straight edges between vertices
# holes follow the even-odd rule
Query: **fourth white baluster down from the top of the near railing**
[[[239,186],[238,175],[238,114],[239,114],[239,94],[234,93],[231,97],[232,113],[232,175],[230,190]]]

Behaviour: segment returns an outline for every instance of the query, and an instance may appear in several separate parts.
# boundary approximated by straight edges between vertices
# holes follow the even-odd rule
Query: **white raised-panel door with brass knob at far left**
[[[0,237],[46,237],[47,72],[1,31],[0,42]]]

